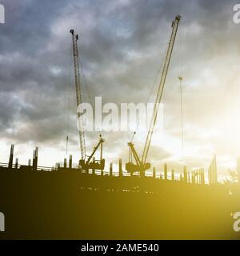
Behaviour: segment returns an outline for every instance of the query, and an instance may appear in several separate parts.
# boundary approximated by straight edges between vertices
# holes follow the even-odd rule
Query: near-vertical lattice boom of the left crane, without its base
[[[73,43],[73,55],[74,55],[74,76],[75,76],[75,87],[77,97],[77,107],[82,103],[81,83],[80,83],[80,71],[79,71],[79,56],[78,56],[78,34],[74,34],[74,30],[70,30],[72,34]],[[86,142],[85,132],[83,126],[83,119],[81,114],[78,113],[78,128],[79,128],[79,140],[82,160],[86,158]]]

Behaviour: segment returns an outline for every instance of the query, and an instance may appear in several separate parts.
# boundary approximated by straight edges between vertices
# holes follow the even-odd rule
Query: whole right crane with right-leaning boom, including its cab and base
[[[175,42],[175,38],[176,38],[176,34],[178,31],[178,24],[180,22],[181,16],[178,15],[175,17],[174,22],[172,22],[172,33],[170,36],[170,42],[168,45],[168,49],[166,52],[166,58],[164,61],[164,66],[162,69],[162,76],[161,76],[161,80],[158,86],[158,93],[157,93],[157,97],[156,100],[154,102],[154,112],[150,121],[150,127],[146,136],[146,142],[145,142],[145,146],[143,149],[143,153],[142,153],[142,158],[140,158],[137,154],[137,151],[134,148],[134,143],[128,142],[127,145],[129,146],[129,162],[126,162],[126,171],[130,172],[130,173],[134,173],[134,172],[140,172],[140,174],[144,174],[144,172],[148,169],[150,169],[150,162],[146,162],[146,158],[150,149],[150,142],[151,142],[151,138],[152,135],[154,133],[154,126],[157,120],[157,116],[158,116],[158,108],[159,108],[159,104],[161,102],[162,99],[162,92],[163,92],[163,88],[166,82],[166,75],[169,69],[169,65],[170,65],[170,58],[171,58],[171,54],[174,48],[174,42]],[[134,156],[135,159],[135,164],[132,161]]]

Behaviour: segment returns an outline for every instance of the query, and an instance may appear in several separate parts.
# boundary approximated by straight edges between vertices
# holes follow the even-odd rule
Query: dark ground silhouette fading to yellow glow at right
[[[0,170],[13,239],[230,239],[240,186],[194,185],[79,170]]]

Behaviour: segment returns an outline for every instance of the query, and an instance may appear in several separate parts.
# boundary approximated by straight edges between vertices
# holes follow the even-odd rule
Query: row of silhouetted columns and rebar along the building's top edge
[[[92,165],[92,166],[91,166]],[[82,169],[81,166],[73,167],[73,158],[70,154],[70,158],[64,158],[63,164],[60,162],[56,163],[54,167],[46,167],[46,166],[38,166],[38,147],[33,152],[33,158],[29,159],[27,165],[19,165],[18,158],[15,159],[14,162],[14,145],[10,146],[10,157],[8,163],[0,163],[0,170],[2,171],[51,171],[51,172],[59,172],[59,171],[78,171],[79,174],[88,174],[94,175],[96,177],[114,177],[114,178],[130,178],[130,177],[138,177],[138,178],[152,178],[156,180],[164,180],[168,182],[183,182],[185,184],[192,185],[217,185],[218,184],[218,174],[217,174],[217,161],[216,156],[212,160],[209,170],[208,170],[208,178],[205,176],[205,171],[203,168],[198,170],[188,171],[186,166],[182,167],[182,174],[176,174],[173,169],[168,170],[168,166],[165,163],[163,170],[156,170],[153,167],[152,171],[148,173],[144,173],[143,176],[139,172],[129,173],[126,170],[123,170],[122,167],[122,159],[119,159],[118,162],[118,170],[113,170],[113,163],[110,162],[110,166],[108,170],[96,170],[94,169],[96,165],[91,164],[88,166],[89,169]]]

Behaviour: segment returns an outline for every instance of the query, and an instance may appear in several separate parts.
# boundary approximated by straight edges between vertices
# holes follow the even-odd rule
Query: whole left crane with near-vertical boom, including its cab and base
[[[79,55],[78,55],[78,34],[74,33],[74,30],[70,30],[72,34],[72,44],[73,44],[73,55],[74,55],[74,76],[75,76],[75,89],[76,89],[76,98],[77,98],[77,107],[82,104],[82,92],[81,92],[81,81],[80,81],[80,70],[79,70]],[[84,131],[84,122],[82,115],[78,111],[78,128],[79,128],[79,142],[81,150],[81,159],[79,160],[79,167],[82,170],[104,170],[105,159],[102,158],[102,144],[104,139],[100,134],[99,142],[97,146],[94,147],[94,150],[90,156],[86,156],[86,141],[85,141],[85,131]],[[100,147],[100,160],[95,160],[94,154]],[[87,158],[87,159],[86,159]],[[91,160],[93,161],[91,162]]]

